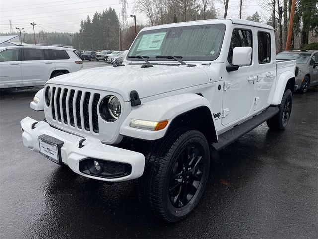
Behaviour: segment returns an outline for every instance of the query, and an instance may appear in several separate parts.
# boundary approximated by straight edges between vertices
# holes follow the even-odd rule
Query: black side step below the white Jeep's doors
[[[267,119],[272,118],[279,112],[278,106],[270,106],[262,113],[254,116],[252,119],[247,120],[239,124],[238,126],[226,131],[219,135],[219,141],[217,143],[212,143],[211,146],[214,147],[217,151],[225,148],[229,144],[236,141],[239,137],[244,134],[252,131],[254,128],[265,122]]]

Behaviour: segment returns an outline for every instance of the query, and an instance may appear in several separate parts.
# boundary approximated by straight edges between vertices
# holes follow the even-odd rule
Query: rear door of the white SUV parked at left
[[[22,76],[27,86],[44,85],[55,70],[54,60],[40,48],[23,48]]]

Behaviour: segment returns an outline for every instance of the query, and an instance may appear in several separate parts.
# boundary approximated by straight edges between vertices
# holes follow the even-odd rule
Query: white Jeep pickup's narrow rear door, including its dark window
[[[256,51],[256,96],[254,111],[260,111],[270,105],[268,100],[276,79],[275,39],[270,30],[255,28],[257,32]]]

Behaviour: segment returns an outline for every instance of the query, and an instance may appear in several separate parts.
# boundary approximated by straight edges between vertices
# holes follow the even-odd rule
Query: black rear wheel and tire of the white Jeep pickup
[[[284,130],[287,127],[290,114],[292,112],[292,92],[287,89],[284,92],[282,101],[279,105],[279,112],[266,121],[267,126],[274,130]]]

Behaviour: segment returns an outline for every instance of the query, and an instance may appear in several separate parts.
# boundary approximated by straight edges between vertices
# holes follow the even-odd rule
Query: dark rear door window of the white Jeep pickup
[[[271,52],[271,44],[270,44],[270,34],[267,32],[258,32],[257,33],[257,41],[258,41],[258,63],[270,63],[270,52]]]

